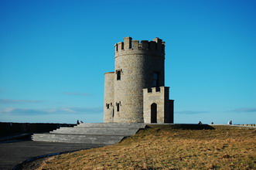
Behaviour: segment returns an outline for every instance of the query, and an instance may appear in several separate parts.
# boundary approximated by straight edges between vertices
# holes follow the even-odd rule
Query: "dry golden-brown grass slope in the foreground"
[[[256,169],[256,130],[154,126],[117,145],[46,159],[38,169]]]

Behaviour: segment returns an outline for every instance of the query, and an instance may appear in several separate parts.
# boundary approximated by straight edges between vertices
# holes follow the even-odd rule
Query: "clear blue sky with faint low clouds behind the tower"
[[[103,121],[123,37],[166,41],[175,123],[256,121],[256,2],[0,1],[0,121]]]

